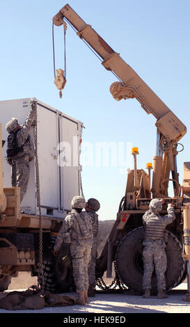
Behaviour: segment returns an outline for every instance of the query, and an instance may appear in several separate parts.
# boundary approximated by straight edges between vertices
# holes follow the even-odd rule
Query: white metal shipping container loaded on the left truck
[[[6,123],[15,117],[24,123],[31,108],[31,98],[0,102],[3,145],[3,186],[11,186],[11,166],[6,161],[8,132]],[[83,124],[61,111],[38,101],[38,166],[40,204],[43,216],[65,217],[73,196],[80,194],[80,135]],[[33,140],[33,127],[30,129]],[[21,209],[39,214],[36,198],[35,160],[30,163],[29,184]]]

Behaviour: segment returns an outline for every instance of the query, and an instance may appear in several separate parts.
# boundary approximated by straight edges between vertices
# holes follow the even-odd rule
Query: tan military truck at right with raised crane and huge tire
[[[113,72],[118,78],[118,81],[112,83],[110,87],[113,98],[117,101],[136,99],[145,113],[152,114],[156,118],[157,143],[153,165],[148,163],[148,173],[143,169],[137,169],[138,148],[132,149],[134,169],[127,176],[125,195],[118,206],[116,222],[97,260],[97,281],[102,279],[105,271],[107,271],[107,277],[111,277],[114,262],[117,276],[122,280],[122,284],[134,292],[140,294],[143,292],[142,216],[148,209],[152,198],[165,198],[166,204],[161,214],[166,214],[168,202],[173,202],[176,215],[175,221],[168,225],[165,233],[168,260],[166,291],[168,292],[184,280],[187,276],[187,264],[189,264],[190,162],[184,163],[182,186],[177,173],[179,141],[186,134],[187,128],[132,67],[125,63],[120,54],[114,51],[68,4],[53,17],[53,24],[56,26],[66,26],[67,23],[100,58],[106,70]],[[57,70],[57,73],[54,82],[61,91],[65,86],[65,72]],[[150,184],[151,170],[152,186]],[[168,196],[170,181],[173,183],[173,198]],[[155,292],[156,276],[153,274],[152,293]]]

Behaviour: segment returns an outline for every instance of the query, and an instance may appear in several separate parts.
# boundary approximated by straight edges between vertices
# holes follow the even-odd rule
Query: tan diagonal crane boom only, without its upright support
[[[125,63],[120,54],[116,53],[68,4],[54,16],[54,24],[56,26],[63,24],[64,17],[76,29],[77,35],[83,38],[102,58],[102,65],[106,70],[113,71],[122,81],[120,90],[116,91],[116,93],[113,91],[113,96],[116,99],[135,97],[147,113],[152,113],[157,118],[157,127],[161,134],[167,135],[170,140],[179,141],[187,131],[184,124],[157,97],[143,79],[136,74],[132,67]],[[112,89],[116,90],[116,86],[117,84],[115,83]],[[163,117],[164,119],[161,119]]]

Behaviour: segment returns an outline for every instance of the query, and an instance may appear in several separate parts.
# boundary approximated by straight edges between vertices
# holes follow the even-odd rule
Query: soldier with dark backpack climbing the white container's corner
[[[29,136],[29,130],[33,124],[36,113],[37,100],[31,99],[31,109],[23,125],[18,124],[17,118],[12,118],[6,124],[8,131],[7,160],[12,166],[12,185],[13,185],[13,166],[16,168],[17,186],[20,187],[20,202],[24,198],[29,182],[30,166],[35,151],[33,142]]]

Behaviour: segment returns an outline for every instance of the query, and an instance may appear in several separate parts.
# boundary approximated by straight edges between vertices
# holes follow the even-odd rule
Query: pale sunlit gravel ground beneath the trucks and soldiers
[[[22,285],[24,285],[24,278],[21,276]],[[28,280],[29,281],[29,280]],[[30,280],[30,282],[35,280]],[[25,284],[27,279],[25,278]],[[25,287],[31,286],[24,285]],[[8,291],[13,290],[14,279]],[[19,286],[17,282],[17,286]],[[24,288],[24,287],[23,287]],[[23,290],[22,288],[22,290]],[[17,290],[21,290],[18,289]],[[6,296],[6,292],[0,294],[0,298]],[[169,294],[168,298],[158,299],[156,296],[150,298],[142,298],[142,296],[126,290],[124,293],[113,292],[106,294],[97,290],[94,298],[90,298],[88,305],[72,305],[56,308],[43,308],[41,310],[3,310],[0,313],[61,313],[61,314],[77,314],[77,313],[93,313],[93,314],[130,314],[130,313],[190,313],[190,303],[184,301],[187,294],[187,282],[182,283]],[[66,294],[63,294],[66,295]],[[68,295],[77,296],[76,293],[69,293]]]

